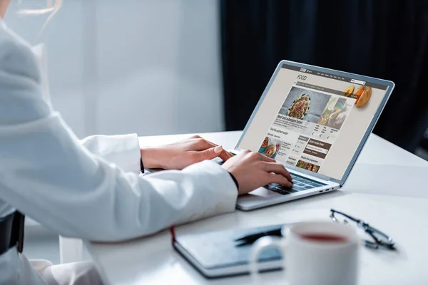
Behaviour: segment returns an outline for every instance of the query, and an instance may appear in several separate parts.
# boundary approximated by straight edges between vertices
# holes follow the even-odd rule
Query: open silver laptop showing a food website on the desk
[[[247,211],[340,189],[393,89],[392,81],[281,61],[230,152],[275,159],[293,185],[260,187],[238,197],[236,207]]]

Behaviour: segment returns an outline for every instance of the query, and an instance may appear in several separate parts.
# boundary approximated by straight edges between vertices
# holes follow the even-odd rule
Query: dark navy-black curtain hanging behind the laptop
[[[428,1],[220,0],[225,120],[242,130],[282,59],[394,81],[374,133],[413,150],[428,125]]]

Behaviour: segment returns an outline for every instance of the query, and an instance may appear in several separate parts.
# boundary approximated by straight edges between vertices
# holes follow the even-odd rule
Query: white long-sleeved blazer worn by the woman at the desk
[[[78,141],[42,90],[29,44],[0,20],[0,217],[19,209],[63,236],[113,242],[235,209],[219,165],[141,176],[137,135]],[[45,283],[13,248],[0,284]]]

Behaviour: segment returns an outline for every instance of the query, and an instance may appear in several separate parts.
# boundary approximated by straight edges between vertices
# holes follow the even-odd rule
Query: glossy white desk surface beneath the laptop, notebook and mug
[[[240,132],[232,132],[203,136],[225,148],[233,148],[239,135]],[[141,138],[141,143],[156,145],[187,136]],[[253,212],[236,211],[186,224],[178,227],[177,233],[328,219],[329,210],[334,207],[366,219],[398,244],[397,252],[373,252],[362,247],[360,284],[427,284],[428,191],[424,173],[428,174],[428,162],[372,135],[342,191]],[[407,187],[406,180],[421,186]],[[89,243],[87,247],[106,284],[250,284],[251,281],[248,276],[205,279],[173,250],[168,232],[122,244]],[[279,283],[283,274],[283,271],[264,274],[265,284]]]

